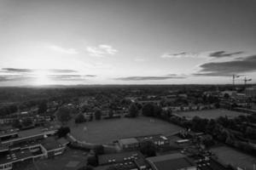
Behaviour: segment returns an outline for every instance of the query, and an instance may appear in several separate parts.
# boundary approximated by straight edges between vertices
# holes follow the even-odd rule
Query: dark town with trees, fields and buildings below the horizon
[[[255,170],[256,86],[0,88],[1,170]]]

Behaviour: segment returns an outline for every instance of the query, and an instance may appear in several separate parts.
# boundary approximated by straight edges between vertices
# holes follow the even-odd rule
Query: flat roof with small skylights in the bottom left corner
[[[19,150],[15,152],[9,152],[6,155],[0,156],[0,165],[15,162],[15,161],[23,161],[25,159],[31,158],[32,153],[29,150]]]

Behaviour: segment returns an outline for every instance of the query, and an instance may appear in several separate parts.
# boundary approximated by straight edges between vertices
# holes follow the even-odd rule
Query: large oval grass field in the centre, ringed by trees
[[[70,127],[75,138],[97,144],[107,144],[121,138],[149,134],[168,135],[182,129],[182,127],[177,127],[169,122],[144,116],[85,122],[80,125],[72,124]]]

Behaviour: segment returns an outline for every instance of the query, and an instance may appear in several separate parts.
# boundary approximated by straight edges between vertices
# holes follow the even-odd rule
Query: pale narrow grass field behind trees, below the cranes
[[[205,110],[205,111],[183,111],[177,112],[180,116],[185,116],[187,119],[192,119],[194,116],[200,116],[201,118],[207,119],[216,119],[219,116],[228,116],[230,118],[247,115],[246,113],[241,113],[238,111],[229,111],[224,109],[214,109],[214,110]]]

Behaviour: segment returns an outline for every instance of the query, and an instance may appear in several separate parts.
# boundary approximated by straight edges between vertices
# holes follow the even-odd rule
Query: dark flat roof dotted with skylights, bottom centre
[[[143,155],[139,151],[121,152],[116,154],[105,154],[98,156],[99,165],[120,163],[124,161],[143,159]]]

